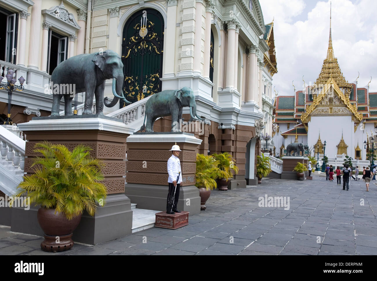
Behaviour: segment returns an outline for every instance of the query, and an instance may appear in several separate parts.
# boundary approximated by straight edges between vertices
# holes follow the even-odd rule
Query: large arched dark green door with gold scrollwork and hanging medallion
[[[136,12],[123,29],[123,93],[136,102],[161,91],[164,19],[154,9]],[[124,102],[120,101],[120,107]]]

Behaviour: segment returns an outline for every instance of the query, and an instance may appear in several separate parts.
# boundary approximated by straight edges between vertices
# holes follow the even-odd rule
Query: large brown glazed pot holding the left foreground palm
[[[55,253],[72,249],[72,232],[80,223],[81,214],[68,220],[63,213],[55,214],[55,209],[40,207],[37,219],[44,232],[44,241],[41,243],[43,251]]]

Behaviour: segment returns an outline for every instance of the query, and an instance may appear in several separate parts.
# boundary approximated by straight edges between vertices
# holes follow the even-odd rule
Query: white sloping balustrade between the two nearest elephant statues
[[[142,100],[138,100],[137,102],[131,103],[130,105],[124,106],[123,108],[111,112],[106,116],[121,119],[126,125],[130,125],[136,120],[144,122],[145,104],[150,97],[151,96],[146,97]]]

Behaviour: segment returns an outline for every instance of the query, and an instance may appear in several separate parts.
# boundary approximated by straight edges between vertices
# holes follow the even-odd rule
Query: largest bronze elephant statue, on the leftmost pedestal
[[[113,79],[112,92],[115,97],[112,102],[109,102],[107,97],[103,98],[106,79]],[[123,81],[123,63],[120,56],[112,50],[66,59],[51,75],[53,94],[51,116],[59,115],[59,103],[63,96],[64,115],[72,115],[72,99],[76,93],[81,92],[85,92],[83,115],[93,114],[93,96],[96,100],[97,114],[103,114],[103,105],[112,107],[119,99],[129,104],[131,102],[126,100],[122,92]]]

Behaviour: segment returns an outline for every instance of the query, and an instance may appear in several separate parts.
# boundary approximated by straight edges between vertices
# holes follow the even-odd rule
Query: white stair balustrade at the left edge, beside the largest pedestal
[[[24,175],[26,141],[17,126],[8,127],[0,126],[0,190],[10,195]]]

